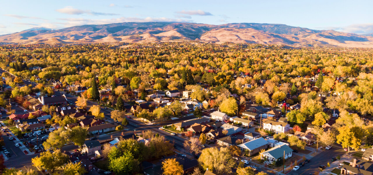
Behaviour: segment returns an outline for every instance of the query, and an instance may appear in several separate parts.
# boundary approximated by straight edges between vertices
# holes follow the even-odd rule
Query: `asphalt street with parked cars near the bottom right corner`
[[[315,172],[319,172],[319,166],[325,165],[327,162],[332,163],[330,159],[335,156],[341,156],[345,154],[346,151],[342,149],[332,148],[330,150],[324,150],[322,153],[317,154],[316,156],[311,158],[310,163],[305,163],[305,165],[299,168],[297,171],[290,171],[288,175],[309,175],[315,174]],[[300,162],[298,162],[300,163]]]

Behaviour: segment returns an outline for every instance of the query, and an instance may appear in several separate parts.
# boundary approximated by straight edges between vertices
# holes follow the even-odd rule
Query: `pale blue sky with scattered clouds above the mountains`
[[[373,33],[372,0],[7,0],[0,35],[118,22],[268,23]]]

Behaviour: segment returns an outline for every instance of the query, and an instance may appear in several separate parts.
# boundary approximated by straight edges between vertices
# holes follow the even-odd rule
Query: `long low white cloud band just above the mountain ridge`
[[[113,24],[120,22],[192,22],[188,19],[173,19],[173,18],[137,18],[137,17],[121,17],[112,19],[85,19],[85,18],[60,18],[59,20],[66,21],[63,24],[65,27],[71,27],[76,25],[86,24]]]

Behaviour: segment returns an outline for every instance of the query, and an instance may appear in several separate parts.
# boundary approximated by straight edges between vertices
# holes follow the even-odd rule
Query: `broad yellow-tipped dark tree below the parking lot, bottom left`
[[[40,156],[31,159],[31,162],[35,167],[41,167],[42,169],[48,169],[52,172],[57,168],[68,163],[69,157],[66,154],[61,153],[60,150],[55,150],[53,153],[50,151],[40,153]]]

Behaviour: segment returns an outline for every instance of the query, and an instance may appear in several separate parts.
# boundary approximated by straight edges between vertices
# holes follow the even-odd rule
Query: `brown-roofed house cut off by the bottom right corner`
[[[372,175],[373,165],[369,162],[364,162],[358,159],[350,160],[350,165],[343,165],[341,168],[342,175]]]

